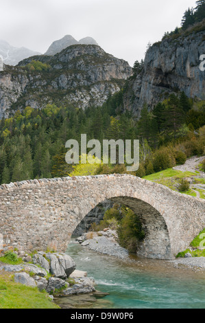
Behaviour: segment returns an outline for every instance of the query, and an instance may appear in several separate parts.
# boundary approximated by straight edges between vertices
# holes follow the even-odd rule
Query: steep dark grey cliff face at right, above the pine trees
[[[200,56],[205,54],[205,32],[152,45],[145,56],[143,71],[130,80],[124,96],[124,109],[139,115],[143,104],[149,108],[166,93],[184,91],[189,98],[205,98],[205,72]]]

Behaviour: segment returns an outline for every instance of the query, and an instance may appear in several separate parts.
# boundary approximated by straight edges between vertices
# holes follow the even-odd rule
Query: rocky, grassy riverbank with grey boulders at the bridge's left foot
[[[0,257],[0,308],[52,309],[59,308],[52,302],[56,297],[89,293],[105,296],[95,290],[95,280],[89,278],[86,271],[75,270],[75,262],[67,254],[37,252],[32,256],[24,254],[23,259],[27,261],[14,252]],[[16,290],[24,293],[19,293],[15,304],[13,291],[15,294]],[[25,300],[27,291],[30,300]],[[31,301],[32,295],[36,300],[34,303]]]

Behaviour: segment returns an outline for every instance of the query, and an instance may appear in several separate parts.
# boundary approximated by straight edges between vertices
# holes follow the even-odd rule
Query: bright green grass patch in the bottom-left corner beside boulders
[[[48,294],[37,287],[14,282],[10,274],[0,276],[0,309],[59,309]]]

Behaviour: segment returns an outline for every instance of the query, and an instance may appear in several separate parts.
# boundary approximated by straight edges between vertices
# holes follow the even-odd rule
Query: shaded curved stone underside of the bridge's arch
[[[143,241],[138,243],[138,248],[136,250],[136,254],[138,256],[166,260],[174,258],[171,251],[169,230],[167,228],[165,218],[160,214],[160,212],[158,212],[158,210],[149,203],[135,197],[119,196],[111,197],[107,200],[110,200],[113,203],[126,205],[138,215],[138,218],[143,225],[143,230],[145,231],[145,238]],[[103,202],[104,201],[101,201],[99,203]],[[84,216],[81,221],[84,221],[85,217],[86,216]],[[77,223],[77,225],[79,225],[80,222]],[[73,230],[73,232],[74,231],[75,230]]]

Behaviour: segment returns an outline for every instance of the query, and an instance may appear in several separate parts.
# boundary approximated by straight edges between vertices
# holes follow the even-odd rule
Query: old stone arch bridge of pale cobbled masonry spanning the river
[[[139,256],[172,259],[205,227],[204,200],[132,175],[34,179],[0,186],[3,250],[65,252],[77,224],[105,199],[140,217]]]

